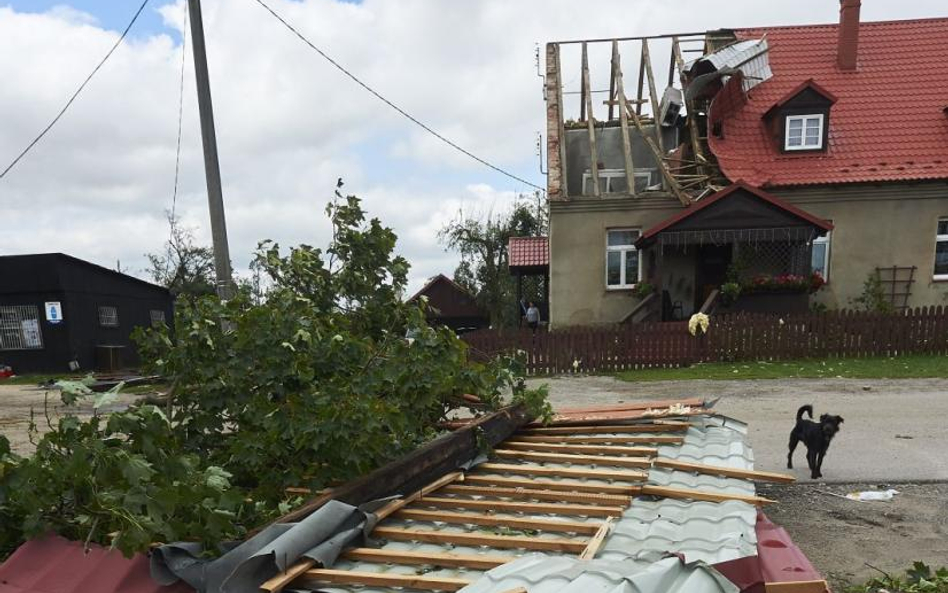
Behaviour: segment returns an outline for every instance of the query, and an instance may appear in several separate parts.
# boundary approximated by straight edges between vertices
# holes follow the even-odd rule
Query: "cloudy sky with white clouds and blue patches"
[[[837,0],[266,0],[406,111],[540,186],[537,43],[834,22]],[[0,170],[41,130],[140,0],[0,0]],[[395,228],[411,288],[457,257],[437,231],[529,186],[458,154],[333,69],[254,0],[203,0],[231,255],[258,240],[322,245],[337,178]],[[0,179],[0,254],[62,251],[143,275],[168,234],[182,0],[151,0],[70,111]],[[948,14],[943,0],[864,0],[863,20]],[[667,54],[656,51],[656,62]],[[176,209],[209,239],[190,45]],[[593,54],[593,64],[600,56]],[[602,56],[606,63],[605,54]],[[626,76],[631,78],[631,59]],[[606,66],[607,68],[607,66]],[[564,83],[578,88],[579,72]],[[607,70],[592,86],[608,84]],[[595,77],[598,76],[598,81]],[[573,114],[575,117],[575,114]],[[2,279],[0,279],[2,281]]]

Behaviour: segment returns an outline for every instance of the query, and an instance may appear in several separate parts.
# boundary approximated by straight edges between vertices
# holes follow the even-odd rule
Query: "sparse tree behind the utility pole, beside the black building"
[[[214,251],[206,245],[197,245],[194,230],[167,212],[171,231],[160,253],[148,253],[148,273],[158,284],[175,297],[200,297],[215,293]]]

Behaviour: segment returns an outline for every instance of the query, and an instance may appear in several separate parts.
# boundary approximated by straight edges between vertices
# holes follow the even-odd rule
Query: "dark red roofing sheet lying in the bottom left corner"
[[[0,565],[0,593],[185,593],[178,581],[162,587],[152,580],[148,558],[125,558],[118,550],[59,536],[26,542]]]

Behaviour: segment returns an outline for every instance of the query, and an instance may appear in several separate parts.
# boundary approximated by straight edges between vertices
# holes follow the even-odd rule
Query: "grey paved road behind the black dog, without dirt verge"
[[[845,418],[823,463],[823,481],[948,480],[948,380],[790,379],[628,383],[611,377],[531,380],[547,383],[556,407],[621,401],[705,397],[715,409],[750,424],[755,466],[786,471],[787,440],[796,410]],[[868,389],[867,389],[868,388]],[[809,481],[805,447],[794,470]]]

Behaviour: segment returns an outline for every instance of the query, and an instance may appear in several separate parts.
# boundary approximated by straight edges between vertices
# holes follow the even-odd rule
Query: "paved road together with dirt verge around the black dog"
[[[813,482],[805,447],[796,453],[798,482],[761,485],[778,501],[767,514],[790,533],[835,590],[878,573],[898,573],[913,561],[948,564],[948,380],[786,379],[758,381],[656,381],[611,377],[532,379],[546,383],[555,407],[699,396],[721,398],[715,409],[749,423],[755,466],[786,469],[787,437],[796,409],[845,418]],[[891,502],[860,503],[844,494],[874,488],[901,491]]]

